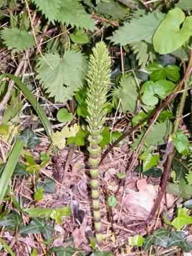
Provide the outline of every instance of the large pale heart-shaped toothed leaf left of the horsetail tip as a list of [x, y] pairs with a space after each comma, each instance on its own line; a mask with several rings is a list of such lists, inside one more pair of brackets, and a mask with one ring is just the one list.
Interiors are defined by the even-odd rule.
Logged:
[[81, 88], [84, 65], [85, 58], [80, 52], [67, 51], [62, 58], [58, 53], [47, 53], [36, 65], [36, 78], [40, 80], [49, 97], [64, 103], [72, 99], [74, 93]]

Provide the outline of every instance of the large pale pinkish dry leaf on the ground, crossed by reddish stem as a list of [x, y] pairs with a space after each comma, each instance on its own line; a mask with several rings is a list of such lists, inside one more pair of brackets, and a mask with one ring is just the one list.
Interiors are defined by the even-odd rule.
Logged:
[[[130, 214], [136, 217], [147, 218], [152, 210], [154, 201], [158, 195], [159, 186], [148, 184], [145, 179], [138, 180], [136, 186], [139, 191], [131, 190], [125, 198], [125, 206]], [[173, 195], [166, 194], [167, 208], [170, 208], [175, 199]], [[160, 212], [163, 211], [165, 199], [163, 197]]]

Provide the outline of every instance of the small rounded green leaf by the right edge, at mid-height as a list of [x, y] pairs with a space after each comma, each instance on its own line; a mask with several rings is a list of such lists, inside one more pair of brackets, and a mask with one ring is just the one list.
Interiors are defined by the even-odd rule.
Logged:
[[177, 134], [172, 136], [173, 144], [175, 145], [177, 151], [181, 154], [188, 154], [189, 152], [189, 140], [182, 131], [177, 132]]

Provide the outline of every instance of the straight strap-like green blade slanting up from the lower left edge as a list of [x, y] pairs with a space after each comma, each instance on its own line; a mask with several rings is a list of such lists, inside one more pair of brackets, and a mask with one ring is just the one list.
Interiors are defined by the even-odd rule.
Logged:
[[3, 173], [0, 178], [0, 204], [2, 203], [4, 194], [6, 193], [7, 186], [10, 182], [11, 176], [20, 157], [22, 149], [24, 147], [24, 142], [20, 139], [15, 141], [12, 152], [8, 158], [6, 166], [4, 167]]

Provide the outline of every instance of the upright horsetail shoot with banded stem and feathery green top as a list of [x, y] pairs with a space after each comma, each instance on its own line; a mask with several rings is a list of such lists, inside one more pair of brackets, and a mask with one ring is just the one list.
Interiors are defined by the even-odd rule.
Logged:
[[99, 42], [93, 48], [90, 56], [89, 72], [87, 75], [88, 89], [86, 92], [86, 104], [88, 108], [88, 130], [89, 140], [89, 163], [92, 189], [93, 217], [95, 226], [95, 237], [98, 246], [103, 244], [102, 223], [99, 213], [99, 170], [100, 147], [102, 140], [101, 131], [107, 114], [107, 93], [110, 83], [111, 61], [108, 56], [107, 47]]

